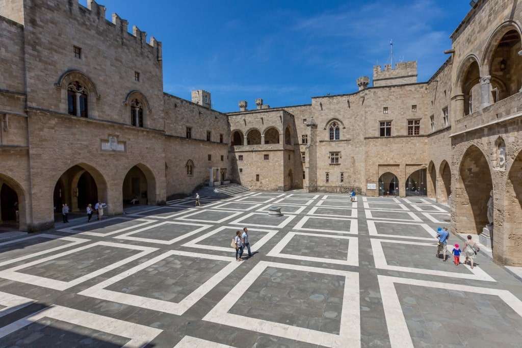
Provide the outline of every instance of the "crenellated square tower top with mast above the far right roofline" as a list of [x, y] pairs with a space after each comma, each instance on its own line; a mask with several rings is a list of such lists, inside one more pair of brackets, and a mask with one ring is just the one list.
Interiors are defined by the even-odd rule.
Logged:
[[405, 85], [417, 83], [417, 61], [386, 64], [384, 70], [380, 65], [373, 67], [373, 87]]

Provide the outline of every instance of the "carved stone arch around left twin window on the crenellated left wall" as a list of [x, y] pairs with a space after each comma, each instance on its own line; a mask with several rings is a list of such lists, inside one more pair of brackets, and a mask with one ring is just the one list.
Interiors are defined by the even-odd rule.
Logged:
[[67, 70], [65, 73], [58, 77], [58, 80], [54, 86], [60, 90], [60, 111], [66, 114], [67, 110], [67, 87], [70, 83], [78, 81], [87, 90], [87, 102], [88, 102], [88, 118], [98, 118], [98, 111], [96, 100], [101, 98], [98, 93], [96, 84], [92, 81], [87, 74], [82, 73], [80, 70]]

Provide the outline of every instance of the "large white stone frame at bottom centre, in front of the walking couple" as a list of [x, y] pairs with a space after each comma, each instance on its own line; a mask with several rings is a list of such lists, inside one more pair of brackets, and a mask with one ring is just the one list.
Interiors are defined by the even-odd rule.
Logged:
[[[238, 299], [248, 290], [248, 287], [255, 282], [267, 267], [341, 275], [345, 277], [339, 334], [336, 335], [228, 313], [230, 308], [234, 306]], [[248, 274], [245, 275], [239, 284], [237, 284], [214, 308], [210, 310], [203, 320], [327, 347], [346, 347], [347, 342], [350, 342], [350, 347], [360, 347], [361, 317], [359, 296], [358, 273], [260, 261]]]

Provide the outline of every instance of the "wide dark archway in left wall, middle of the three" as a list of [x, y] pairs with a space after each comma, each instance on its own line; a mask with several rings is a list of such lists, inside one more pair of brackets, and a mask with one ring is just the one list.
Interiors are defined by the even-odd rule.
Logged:
[[70, 212], [77, 212], [85, 211], [89, 203], [94, 205], [99, 199], [105, 202], [107, 199], [105, 178], [86, 163], [70, 167], [54, 185], [53, 207], [56, 214], [62, 213], [64, 203], [69, 205]]

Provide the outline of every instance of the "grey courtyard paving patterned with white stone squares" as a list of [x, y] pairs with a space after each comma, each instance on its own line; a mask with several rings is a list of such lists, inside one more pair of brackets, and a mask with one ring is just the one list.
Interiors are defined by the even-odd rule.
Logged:
[[[201, 203], [0, 243], [0, 347], [520, 346], [522, 283], [481, 253], [473, 269], [435, 258], [446, 206], [302, 191]], [[243, 226], [254, 255], [238, 262]]]

